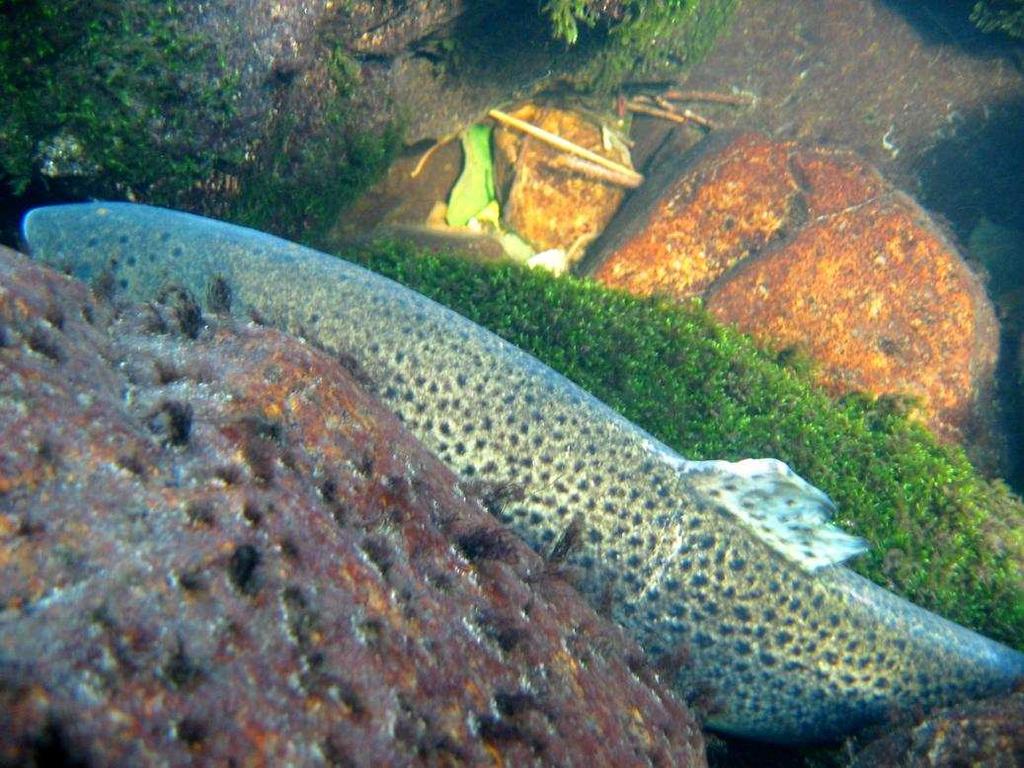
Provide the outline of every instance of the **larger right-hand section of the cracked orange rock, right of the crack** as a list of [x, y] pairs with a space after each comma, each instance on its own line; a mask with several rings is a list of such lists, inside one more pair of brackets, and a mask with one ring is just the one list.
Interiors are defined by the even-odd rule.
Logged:
[[980, 425], [995, 315], [956, 249], [902, 194], [814, 220], [714, 286], [708, 306], [773, 346], [807, 349], [837, 394], [910, 394], [947, 439]]

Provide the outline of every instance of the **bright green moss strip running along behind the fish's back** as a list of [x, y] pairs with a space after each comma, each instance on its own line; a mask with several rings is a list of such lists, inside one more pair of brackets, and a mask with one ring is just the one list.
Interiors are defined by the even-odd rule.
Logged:
[[394, 244], [346, 253], [561, 371], [693, 459], [776, 457], [825, 489], [879, 584], [1024, 647], [1024, 506], [898, 399], [839, 402], [696, 306]]

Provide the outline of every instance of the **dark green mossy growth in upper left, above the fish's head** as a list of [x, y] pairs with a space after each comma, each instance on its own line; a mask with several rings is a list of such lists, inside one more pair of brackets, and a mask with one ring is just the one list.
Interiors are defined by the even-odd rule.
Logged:
[[240, 145], [233, 129], [253, 120], [234, 106], [241, 73], [184, 13], [174, 0], [0, 0], [0, 183], [19, 196], [54, 176], [57, 195], [195, 209], [204, 184], [230, 179], [239, 195], [214, 195], [204, 212], [315, 236], [387, 167], [401, 126], [358, 124], [359, 67], [327, 46], [319, 112], [283, 96], [253, 126], [258, 148]]

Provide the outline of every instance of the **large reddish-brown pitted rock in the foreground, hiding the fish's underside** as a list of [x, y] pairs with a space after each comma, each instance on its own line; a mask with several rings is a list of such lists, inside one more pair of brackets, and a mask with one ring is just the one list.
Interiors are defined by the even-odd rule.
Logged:
[[0, 251], [0, 764], [705, 764], [365, 383]]

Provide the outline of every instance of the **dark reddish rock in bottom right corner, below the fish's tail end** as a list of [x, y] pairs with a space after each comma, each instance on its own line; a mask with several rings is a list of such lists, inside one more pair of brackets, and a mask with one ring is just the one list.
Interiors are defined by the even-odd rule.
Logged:
[[861, 750], [851, 768], [1017, 768], [1024, 765], [1024, 691], [889, 730], [894, 732]]

